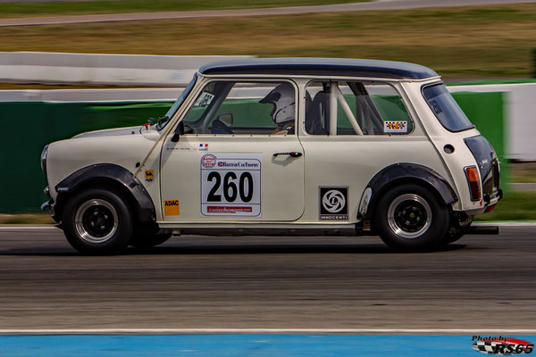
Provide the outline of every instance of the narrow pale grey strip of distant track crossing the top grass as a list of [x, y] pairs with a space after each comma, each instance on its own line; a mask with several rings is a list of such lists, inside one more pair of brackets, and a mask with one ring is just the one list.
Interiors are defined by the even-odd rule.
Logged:
[[[2, 1], [2, 0], [0, 0]], [[370, 10], [416, 9], [423, 7], [476, 6], [487, 4], [534, 3], [536, 0], [380, 0], [368, 3], [330, 4], [316, 6], [272, 7], [239, 10], [205, 10], [187, 12], [134, 12], [96, 15], [71, 15], [0, 19], [3, 26], [29, 26], [107, 21], [153, 21], [207, 17], [269, 16], [315, 12], [356, 12]]]

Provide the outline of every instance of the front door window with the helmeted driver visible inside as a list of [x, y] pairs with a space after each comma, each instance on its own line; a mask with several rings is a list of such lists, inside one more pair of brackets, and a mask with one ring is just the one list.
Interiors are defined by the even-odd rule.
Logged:
[[295, 113], [290, 83], [212, 81], [183, 120], [194, 134], [292, 135]]

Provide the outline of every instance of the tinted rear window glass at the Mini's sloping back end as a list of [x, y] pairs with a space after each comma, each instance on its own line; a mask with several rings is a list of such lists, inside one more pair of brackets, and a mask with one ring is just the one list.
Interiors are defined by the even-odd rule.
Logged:
[[442, 84], [423, 88], [424, 99], [431, 111], [449, 131], [473, 129], [474, 125]]

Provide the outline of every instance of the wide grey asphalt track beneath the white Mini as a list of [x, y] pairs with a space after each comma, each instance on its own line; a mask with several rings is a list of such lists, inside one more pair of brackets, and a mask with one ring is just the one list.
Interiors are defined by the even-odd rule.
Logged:
[[80, 256], [0, 229], [0, 328], [534, 329], [536, 227], [395, 253], [377, 237], [173, 237]]

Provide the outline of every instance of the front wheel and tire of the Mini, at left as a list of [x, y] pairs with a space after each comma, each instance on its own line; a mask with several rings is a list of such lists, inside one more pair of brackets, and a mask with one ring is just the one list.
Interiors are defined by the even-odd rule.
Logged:
[[92, 188], [73, 195], [63, 210], [63, 233], [83, 254], [121, 253], [129, 245], [133, 219], [120, 194]]

